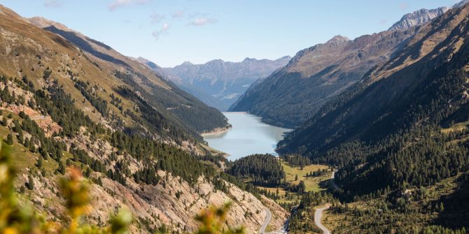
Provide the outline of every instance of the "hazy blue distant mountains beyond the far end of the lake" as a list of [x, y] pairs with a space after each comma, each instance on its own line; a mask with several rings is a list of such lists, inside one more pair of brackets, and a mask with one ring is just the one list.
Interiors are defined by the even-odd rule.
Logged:
[[285, 66], [290, 59], [291, 57], [286, 56], [274, 61], [246, 58], [241, 62], [226, 62], [221, 59], [206, 64], [185, 62], [174, 68], [162, 68], [160, 72], [167, 74], [169, 80], [207, 105], [224, 111], [253, 82], [266, 78], [277, 68]]

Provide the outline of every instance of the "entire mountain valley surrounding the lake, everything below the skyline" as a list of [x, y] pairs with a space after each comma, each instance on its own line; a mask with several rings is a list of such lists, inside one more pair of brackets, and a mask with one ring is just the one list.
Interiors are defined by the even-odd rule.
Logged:
[[[221, 228], [247, 233], [280, 230], [289, 216], [288, 231], [317, 232], [318, 210], [333, 233], [467, 233], [466, 2], [293, 58], [174, 68], [0, 6], [0, 183], [17, 175], [1, 207], [13, 200], [47, 224], [73, 224], [67, 210], [86, 199], [58, 191], [76, 168], [91, 198], [83, 221], [104, 226], [124, 207], [131, 233], [194, 232], [194, 214], [227, 201]], [[230, 162], [207, 146], [202, 133], [230, 126], [219, 111], [228, 105], [295, 128], [280, 158]], [[0, 231], [23, 215], [6, 210], [21, 215], [0, 217]]]

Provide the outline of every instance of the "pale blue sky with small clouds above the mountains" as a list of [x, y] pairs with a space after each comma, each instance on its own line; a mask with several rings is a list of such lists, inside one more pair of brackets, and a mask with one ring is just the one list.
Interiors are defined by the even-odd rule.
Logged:
[[341, 34], [386, 30], [405, 13], [455, 0], [0, 0], [160, 66], [276, 59]]

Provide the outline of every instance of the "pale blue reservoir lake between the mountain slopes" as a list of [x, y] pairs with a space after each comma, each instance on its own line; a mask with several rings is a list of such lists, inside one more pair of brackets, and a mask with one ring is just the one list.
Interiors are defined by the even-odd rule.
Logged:
[[250, 154], [274, 154], [276, 144], [290, 129], [283, 129], [261, 122], [261, 118], [245, 112], [223, 112], [232, 125], [224, 133], [204, 136], [209, 146], [227, 154], [228, 159], [236, 159]]

